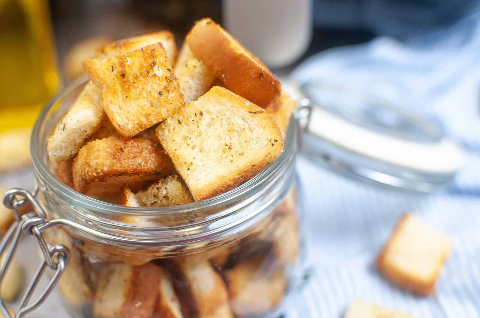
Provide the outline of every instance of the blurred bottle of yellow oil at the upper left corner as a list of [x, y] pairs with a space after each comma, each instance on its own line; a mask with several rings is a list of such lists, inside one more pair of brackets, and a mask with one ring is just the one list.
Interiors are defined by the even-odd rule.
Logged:
[[0, 133], [33, 126], [58, 87], [47, 0], [0, 0]]

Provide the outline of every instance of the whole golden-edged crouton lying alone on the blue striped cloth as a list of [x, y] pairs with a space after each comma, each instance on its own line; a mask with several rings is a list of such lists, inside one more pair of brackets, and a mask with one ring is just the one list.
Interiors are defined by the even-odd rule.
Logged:
[[399, 219], [376, 265], [392, 283], [416, 295], [430, 295], [451, 246], [445, 234], [418, 216], [406, 213]]

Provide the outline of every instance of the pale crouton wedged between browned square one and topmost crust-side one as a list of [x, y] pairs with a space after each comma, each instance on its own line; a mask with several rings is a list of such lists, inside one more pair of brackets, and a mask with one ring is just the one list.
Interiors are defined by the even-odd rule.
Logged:
[[178, 63], [174, 67], [179, 79], [184, 101], [192, 102], [207, 92], [215, 80], [215, 74], [196, 58], [188, 44], [183, 43]]

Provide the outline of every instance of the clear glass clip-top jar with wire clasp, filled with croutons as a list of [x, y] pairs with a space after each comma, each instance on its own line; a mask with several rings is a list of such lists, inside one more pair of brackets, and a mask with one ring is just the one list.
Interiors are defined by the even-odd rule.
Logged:
[[[296, 125], [288, 129], [282, 155], [234, 190], [180, 206], [126, 207], [74, 191], [48, 160], [47, 138], [80, 89], [77, 82], [60, 93], [36, 122], [31, 150], [38, 189], [31, 197], [23, 192], [36, 215], [20, 221], [26, 234], [51, 245], [44, 256], [57, 273], [60, 260], [70, 258], [58, 286], [71, 314], [279, 315], [301, 275]], [[14, 194], [22, 193], [14, 190], [4, 202], [19, 207], [23, 201]]]

